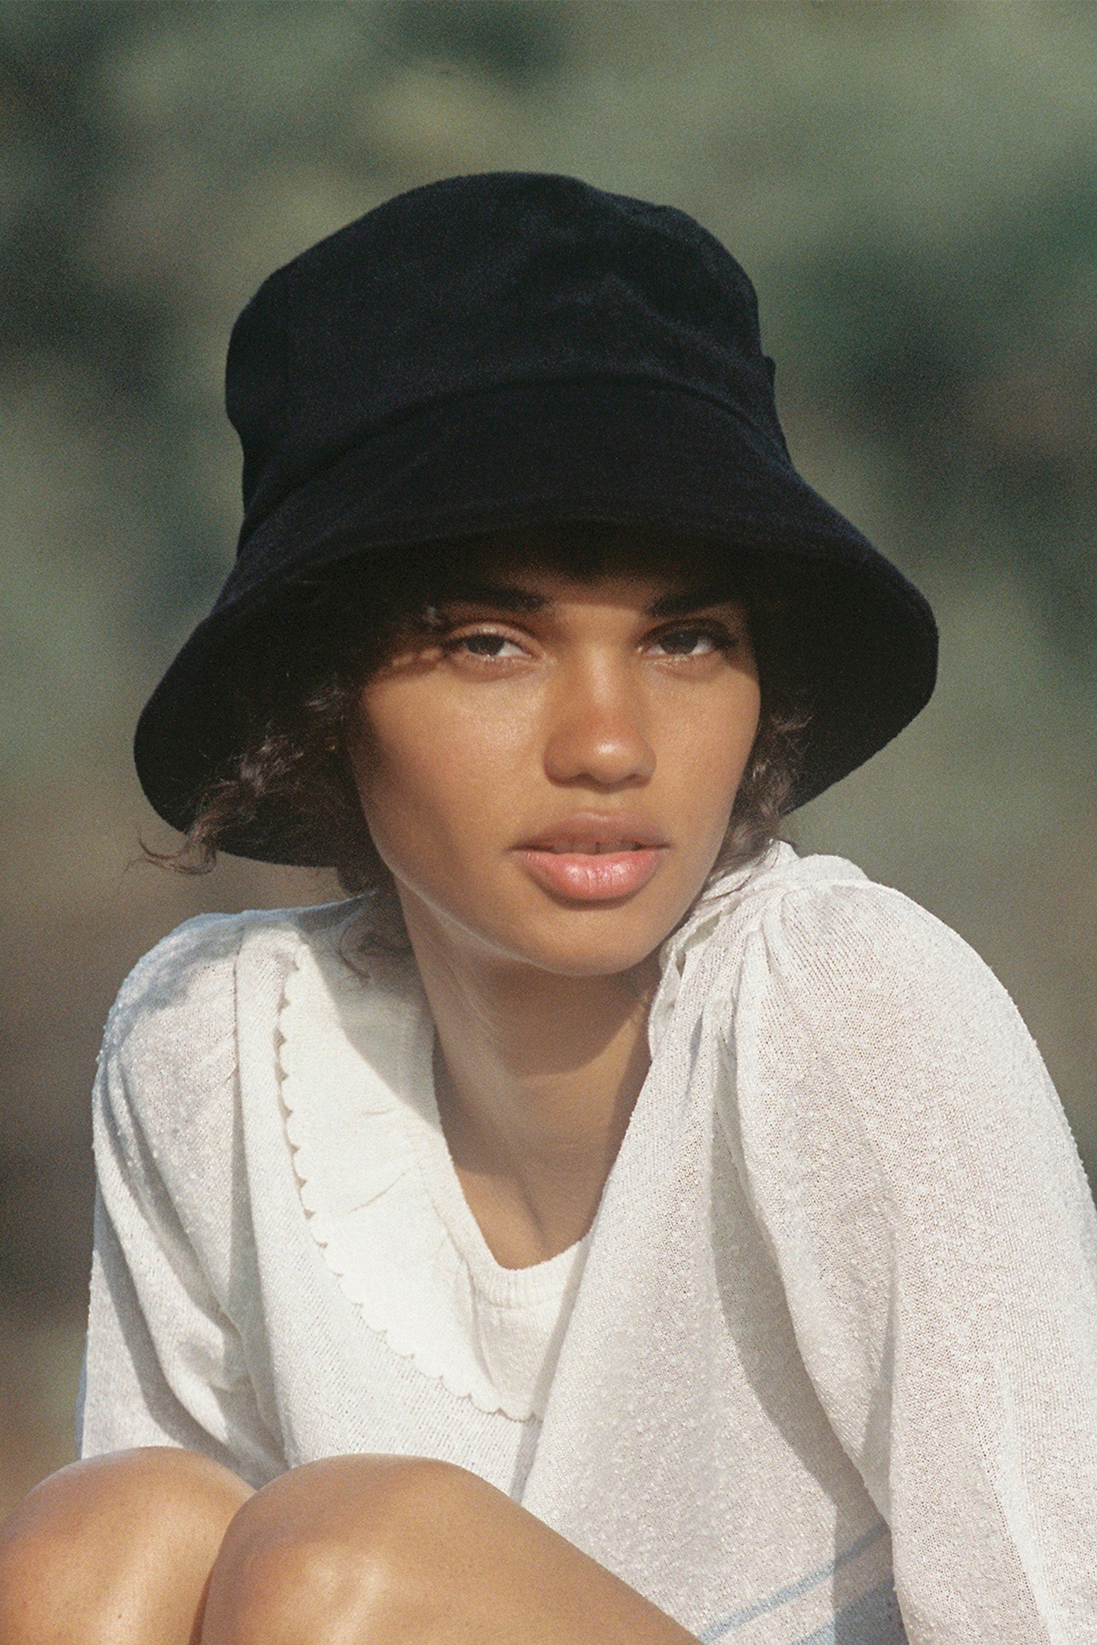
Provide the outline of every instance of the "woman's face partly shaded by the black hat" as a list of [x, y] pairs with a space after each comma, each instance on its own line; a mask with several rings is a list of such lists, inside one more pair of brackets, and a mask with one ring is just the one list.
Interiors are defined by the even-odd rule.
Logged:
[[564, 975], [646, 959], [712, 869], [758, 707], [742, 605], [689, 579], [477, 572], [359, 699], [413, 939]]

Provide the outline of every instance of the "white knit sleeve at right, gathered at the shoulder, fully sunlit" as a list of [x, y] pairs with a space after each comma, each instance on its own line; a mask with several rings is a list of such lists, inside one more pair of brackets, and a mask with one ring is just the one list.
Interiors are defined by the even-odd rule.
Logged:
[[1097, 1221], [1011, 1000], [868, 882], [747, 938], [725, 1130], [911, 1645], [1097, 1640]]

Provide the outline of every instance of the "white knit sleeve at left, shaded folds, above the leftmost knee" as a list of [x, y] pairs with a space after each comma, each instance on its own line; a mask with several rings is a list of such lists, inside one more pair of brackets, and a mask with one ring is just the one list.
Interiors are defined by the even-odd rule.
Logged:
[[95, 1245], [82, 1456], [173, 1444], [252, 1484], [281, 1472], [250, 1375], [257, 1318], [240, 1160], [237, 923], [187, 921], [132, 972], [94, 1094]]

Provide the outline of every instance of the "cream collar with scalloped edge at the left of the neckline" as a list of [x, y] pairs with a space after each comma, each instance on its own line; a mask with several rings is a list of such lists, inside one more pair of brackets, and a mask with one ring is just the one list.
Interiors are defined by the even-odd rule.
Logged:
[[388, 1347], [479, 1410], [539, 1416], [589, 1235], [503, 1268], [469, 1211], [434, 1102], [434, 1023], [408, 957], [352, 971], [350, 920], [293, 952], [278, 1018], [301, 1202], [345, 1296]]

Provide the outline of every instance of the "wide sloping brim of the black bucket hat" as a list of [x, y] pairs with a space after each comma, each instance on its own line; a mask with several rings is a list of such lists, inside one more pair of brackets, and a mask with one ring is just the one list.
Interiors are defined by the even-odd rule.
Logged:
[[[145, 795], [173, 827], [243, 752], [225, 689], [255, 625], [294, 581], [347, 559], [400, 576], [411, 544], [600, 521], [706, 536], [755, 577], [780, 572], [793, 655], [781, 671], [811, 706], [793, 806], [890, 742], [928, 702], [937, 632], [928, 602], [783, 451], [729, 403], [645, 380], [516, 383], [419, 410], [370, 434], [286, 495], [242, 546], [211, 615], [138, 721]], [[257, 816], [234, 850], [327, 867], [299, 819], [280, 847]]]

